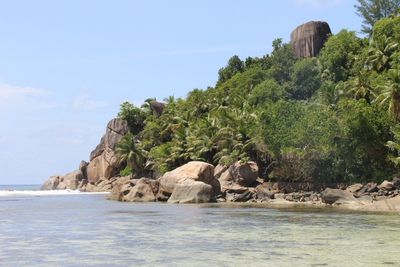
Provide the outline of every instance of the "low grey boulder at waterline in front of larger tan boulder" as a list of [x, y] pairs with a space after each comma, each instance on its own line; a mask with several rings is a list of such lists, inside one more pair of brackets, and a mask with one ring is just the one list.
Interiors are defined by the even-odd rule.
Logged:
[[171, 197], [168, 199], [169, 203], [207, 203], [213, 200], [214, 192], [211, 185], [186, 180], [183, 183], [177, 184]]

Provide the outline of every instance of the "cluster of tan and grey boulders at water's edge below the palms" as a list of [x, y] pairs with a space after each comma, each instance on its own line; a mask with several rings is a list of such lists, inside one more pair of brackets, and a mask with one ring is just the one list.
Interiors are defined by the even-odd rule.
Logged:
[[258, 168], [254, 162], [230, 166], [191, 161], [158, 179], [122, 177], [109, 199], [169, 203], [244, 202], [256, 196]]

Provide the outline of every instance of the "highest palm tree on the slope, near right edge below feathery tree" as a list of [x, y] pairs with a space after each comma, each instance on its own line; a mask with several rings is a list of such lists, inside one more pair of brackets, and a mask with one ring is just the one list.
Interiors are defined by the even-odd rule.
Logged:
[[386, 36], [375, 37], [372, 40], [366, 63], [372, 69], [381, 72], [390, 68], [390, 56], [398, 47], [398, 43]]

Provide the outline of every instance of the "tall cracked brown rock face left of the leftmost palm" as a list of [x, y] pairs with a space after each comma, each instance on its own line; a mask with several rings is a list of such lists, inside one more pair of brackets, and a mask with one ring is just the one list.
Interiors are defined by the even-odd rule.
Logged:
[[86, 176], [95, 184], [100, 178], [111, 178], [117, 174], [118, 164], [115, 147], [128, 132], [128, 123], [122, 119], [112, 119], [106, 128], [100, 144], [90, 153], [90, 162], [86, 166]]

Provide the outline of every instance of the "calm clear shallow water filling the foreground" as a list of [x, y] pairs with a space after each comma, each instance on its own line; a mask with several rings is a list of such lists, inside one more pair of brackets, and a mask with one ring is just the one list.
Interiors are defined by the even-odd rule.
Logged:
[[2, 196], [0, 265], [400, 266], [400, 216]]

